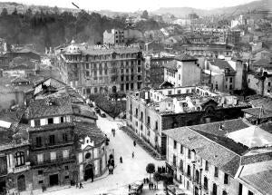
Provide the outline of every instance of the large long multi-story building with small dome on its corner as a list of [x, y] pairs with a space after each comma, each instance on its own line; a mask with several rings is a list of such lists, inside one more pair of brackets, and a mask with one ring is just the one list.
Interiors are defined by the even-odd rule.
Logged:
[[[103, 47], [104, 46], [104, 47]], [[58, 53], [64, 83], [86, 95], [141, 89], [144, 63], [138, 47], [71, 45]]]

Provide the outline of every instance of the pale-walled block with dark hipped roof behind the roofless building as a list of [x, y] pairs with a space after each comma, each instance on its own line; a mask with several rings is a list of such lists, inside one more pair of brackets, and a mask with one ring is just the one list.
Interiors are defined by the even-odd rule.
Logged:
[[164, 81], [175, 87], [196, 86], [201, 83], [198, 59], [182, 54], [164, 66]]

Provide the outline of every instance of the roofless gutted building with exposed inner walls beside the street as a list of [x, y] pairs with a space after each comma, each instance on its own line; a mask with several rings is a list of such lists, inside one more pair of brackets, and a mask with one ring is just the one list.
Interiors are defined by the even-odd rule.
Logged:
[[160, 152], [166, 153], [166, 137], [162, 132], [174, 127], [217, 122], [243, 116], [248, 108], [235, 96], [212, 93], [207, 86], [168, 88], [164, 85], [127, 95], [126, 122], [140, 138]]

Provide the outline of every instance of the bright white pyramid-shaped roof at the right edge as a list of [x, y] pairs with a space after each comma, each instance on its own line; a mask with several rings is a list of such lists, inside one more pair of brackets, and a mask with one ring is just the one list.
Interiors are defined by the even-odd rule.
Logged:
[[272, 134], [255, 125], [236, 132], [230, 132], [227, 136], [234, 141], [248, 146], [248, 148], [263, 147], [272, 144]]

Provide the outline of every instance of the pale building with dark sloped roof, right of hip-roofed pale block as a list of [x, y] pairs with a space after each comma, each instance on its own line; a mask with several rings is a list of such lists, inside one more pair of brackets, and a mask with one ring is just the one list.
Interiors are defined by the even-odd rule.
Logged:
[[247, 83], [247, 64], [240, 60], [211, 59], [203, 69], [210, 76], [211, 88], [220, 92], [242, 90]]

